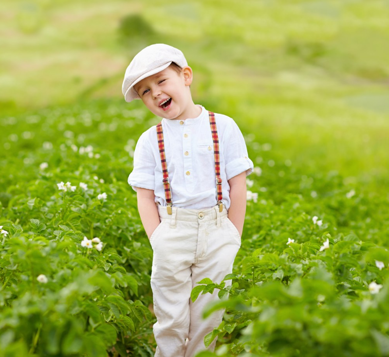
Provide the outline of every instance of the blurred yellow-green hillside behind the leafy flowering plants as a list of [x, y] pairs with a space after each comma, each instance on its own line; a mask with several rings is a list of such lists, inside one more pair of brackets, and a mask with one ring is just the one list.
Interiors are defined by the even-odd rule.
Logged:
[[[257, 164], [335, 172], [389, 198], [388, 0], [3, 0], [0, 33], [8, 129], [42, 108], [144, 110], [124, 101], [124, 72], [162, 42], [193, 68], [195, 103], [234, 118], [250, 150], [272, 150]], [[18, 135], [6, 133], [0, 151]]]

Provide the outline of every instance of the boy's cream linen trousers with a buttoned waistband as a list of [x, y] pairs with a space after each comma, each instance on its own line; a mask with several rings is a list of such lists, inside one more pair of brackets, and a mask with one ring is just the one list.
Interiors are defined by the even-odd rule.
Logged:
[[[161, 223], [150, 237], [155, 357], [192, 357], [205, 350], [204, 336], [219, 326], [224, 311], [203, 320], [204, 305], [218, 301], [219, 290], [200, 294], [194, 303], [190, 292], [204, 278], [220, 283], [232, 272], [241, 237], [225, 207], [222, 212], [218, 206], [206, 210], [172, 207], [172, 214], [167, 214], [166, 207], [158, 205], [158, 213]], [[213, 351], [215, 344], [216, 339], [207, 350]]]

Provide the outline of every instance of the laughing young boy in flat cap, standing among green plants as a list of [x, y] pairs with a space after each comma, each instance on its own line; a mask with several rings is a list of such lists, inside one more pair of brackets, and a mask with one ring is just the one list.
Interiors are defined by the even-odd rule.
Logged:
[[253, 171], [235, 122], [193, 103], [192, 79], [180, 50], [154, 44], [133, 58], [122, 88], [127, 102], [141, 99], [164, 118], [140, 136], [128, 178], [153, 249], [155, 357], [194, 356], [222, 321], [223, 311], [202, 320], [217, 291], [195, 303], [190, 292], [204, 278], [221, 282], [232, 272]]

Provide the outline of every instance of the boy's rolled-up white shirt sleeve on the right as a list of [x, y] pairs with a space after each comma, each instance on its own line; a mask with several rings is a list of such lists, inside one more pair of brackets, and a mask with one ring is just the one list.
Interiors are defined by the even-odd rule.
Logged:
[[238, 125], [231, 119], [229, 130], [224, 139], [224, 160], [227, 180], [246, 172], [250, 175], [254, 169], [254, 163], [248, 157], [246, 143]]

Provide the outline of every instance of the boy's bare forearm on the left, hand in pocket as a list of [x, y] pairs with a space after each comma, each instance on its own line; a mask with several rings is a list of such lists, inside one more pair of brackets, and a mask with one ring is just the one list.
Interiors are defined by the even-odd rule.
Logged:
[[137, 187], [136, 197], [138, 199], [138, 211], [141, 216], [143, 227], [148, 238], [161, 223], [158, 208], [154, 202], [154, 191]]

